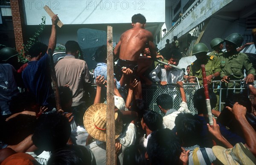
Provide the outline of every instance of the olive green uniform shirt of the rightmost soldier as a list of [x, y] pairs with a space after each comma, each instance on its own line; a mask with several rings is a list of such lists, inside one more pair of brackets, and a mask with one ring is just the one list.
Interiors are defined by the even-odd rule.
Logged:
[[221, 62], [221, 78], [224, 76], [233, 76], [230, 80], [241, 80], [244, 78], [244, 69], [247, 75], [253, 74], [255, 76], [255, 69], [250, 62], [248, 56], [244, 53], [237, 52], [232, 56], [228, 56], [227, 52], [219, 54]]

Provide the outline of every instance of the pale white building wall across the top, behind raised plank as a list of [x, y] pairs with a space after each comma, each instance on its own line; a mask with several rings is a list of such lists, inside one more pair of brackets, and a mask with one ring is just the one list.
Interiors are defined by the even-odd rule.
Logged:
[[42, 16], [47, 16], [45, 5], [64, 25], [130, 23], [138, 13], [147, 22], [165, 22], [165, 0], [24, 0], [26, 25], [41, 23]]

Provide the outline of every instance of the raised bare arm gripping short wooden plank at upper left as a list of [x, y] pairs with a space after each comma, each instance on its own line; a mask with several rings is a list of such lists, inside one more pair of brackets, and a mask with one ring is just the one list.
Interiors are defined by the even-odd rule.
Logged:
[[[51, 36], [50, 36], [49, 44], [48, 44], [48, 49], [51, 48], [52, 53], [54, 52], [55, 47], [56, 47], [56, 25], [57, 25], [58, 20], [59, 20], [58, 15], [55, 14], [52, 17], [52, 32], [51, 32]], [[47, 54], [48, 54], [48, 49], [47, 49]]]

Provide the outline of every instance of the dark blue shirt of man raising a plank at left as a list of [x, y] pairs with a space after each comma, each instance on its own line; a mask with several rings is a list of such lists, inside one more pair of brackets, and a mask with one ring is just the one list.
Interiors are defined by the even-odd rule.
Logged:
[[35, 95], [37, 103], [47, 106], [46, 100], [53, 93], [48, 54], [45, 53], [39, 61], [29, 62], [22, 73], [22, 79], [25, 88]]

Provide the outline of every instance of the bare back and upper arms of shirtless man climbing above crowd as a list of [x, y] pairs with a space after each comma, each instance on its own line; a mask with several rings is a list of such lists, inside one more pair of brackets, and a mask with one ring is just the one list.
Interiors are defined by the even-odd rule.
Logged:
[[151, 56], [156, 56], [155, 46], [153, 43], [153, 35], [150, 31], [144, 29], [144, 24], [136, 23], [134, 27], [125, 31], [116, 48], [115, 55], [119, 55], [119, 59], [137, 61], [145, 45], [148, 44]]

